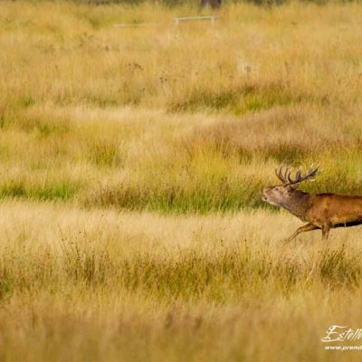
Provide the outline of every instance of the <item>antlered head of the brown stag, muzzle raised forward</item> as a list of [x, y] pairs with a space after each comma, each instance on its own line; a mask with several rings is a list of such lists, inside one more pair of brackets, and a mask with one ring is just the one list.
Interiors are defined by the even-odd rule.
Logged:
[[300, 167], [295, 176], [292, 176], [292, 169], [290, 167], [280, 167], [275, 170], [275, 175], [281, 180], [282, 184], [264, 187], [262, 189], [262, 201], [291, 210], [296, 201], [305, 199], [303, 195], [307, 195], [298, 190], [300, 183], [306, 180], [314, 180], [319, 175], [319, 167], [310, 167], [304, 175]]

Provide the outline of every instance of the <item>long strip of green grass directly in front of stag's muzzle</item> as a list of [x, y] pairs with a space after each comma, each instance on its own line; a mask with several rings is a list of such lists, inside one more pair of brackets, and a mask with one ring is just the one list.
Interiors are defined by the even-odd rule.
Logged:
[[[159, 183], [157, 182], [159, 180]], [[114, 206], [122, 209], [160, 211], [162, 213], [230, 212], [265, 206], [261, 200], [262, 182], [252, 178], [230, 179], [214, 177], [195, 181], [180, 177], [178, 181], [165, 183], [155, 179], [153, 183], [116, 184], [98, 186], [81, 198], [87, 207]]]

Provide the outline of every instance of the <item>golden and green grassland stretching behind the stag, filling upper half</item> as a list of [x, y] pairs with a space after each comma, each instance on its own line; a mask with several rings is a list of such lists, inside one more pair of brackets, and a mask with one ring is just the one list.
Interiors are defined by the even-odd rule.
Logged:
[[319, 191], [359, 190], [359, 5], [229, 5], [215, 27], [175, 27], [186, 7], [2, 9], [2, 197], [238, 210], [312, 161]]

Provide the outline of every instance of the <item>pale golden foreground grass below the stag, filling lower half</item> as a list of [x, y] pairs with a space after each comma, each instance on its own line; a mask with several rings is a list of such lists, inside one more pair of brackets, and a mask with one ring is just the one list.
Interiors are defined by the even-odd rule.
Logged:
[[262, 211], [0, 211], [4, 360], [339, 361], [320, 338], [361, 321], [351, 229], [285, 244], [298, 222]]

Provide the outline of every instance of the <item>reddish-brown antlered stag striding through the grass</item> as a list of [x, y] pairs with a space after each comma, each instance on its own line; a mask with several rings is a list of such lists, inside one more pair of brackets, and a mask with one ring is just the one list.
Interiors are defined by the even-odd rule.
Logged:
[[300, 220], [308, 223], [301, 226], [287, 241], [299, 233], [321, 229], [322, 238], [328, 239], [329, 229], [362, 224], [362, 196], [338, 194], [308, 194], [298, 189], [301, 182], [312, 180], [319, 175], [319, 167], [310, 167], [305, 174], [298, 169], [294, 177], [291, 169], [281, 167], [275, 170], [281, 186], [264, 187], [262, 201], [281, 206]]

